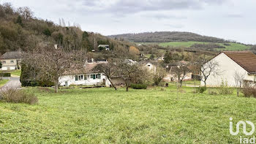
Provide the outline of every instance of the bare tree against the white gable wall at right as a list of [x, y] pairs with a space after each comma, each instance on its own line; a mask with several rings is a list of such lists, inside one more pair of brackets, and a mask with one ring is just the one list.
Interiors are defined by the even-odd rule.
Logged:
[[200, 66], [201, 80], [203, 81], [206, 88], [206, 80], [210, 75], [219, 75], [219, 63], [217, 61], [211, 60], [206, 61], [206, 59], [201, 59], [197, 62]]

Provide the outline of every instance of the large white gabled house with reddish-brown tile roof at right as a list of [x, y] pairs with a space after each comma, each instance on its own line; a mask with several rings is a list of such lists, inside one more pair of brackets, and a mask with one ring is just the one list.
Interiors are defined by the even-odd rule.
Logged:
[[[256, 80], [256, 55], [250, 51], [225, 51], [212, 58], [219, 66], [219, 75], [209, 75], [206, 86], [221, 86], [222, 82], [228, 86], [236, 86], [235, 72], [244, 75], [244, 80]], [[207, 63], [206, 63], [207, 64]], [[201, 86], [204, 86], [201, 81]]]

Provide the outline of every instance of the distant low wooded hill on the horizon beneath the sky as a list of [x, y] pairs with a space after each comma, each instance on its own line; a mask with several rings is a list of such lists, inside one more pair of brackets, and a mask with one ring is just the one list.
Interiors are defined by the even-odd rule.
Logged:
[[207, 37], [191, 32], [159, 31], [139, 34], [118, 34], [108, 36], [112, 39], [124, 39], [130, 42], [226, 42], [225, 39]]

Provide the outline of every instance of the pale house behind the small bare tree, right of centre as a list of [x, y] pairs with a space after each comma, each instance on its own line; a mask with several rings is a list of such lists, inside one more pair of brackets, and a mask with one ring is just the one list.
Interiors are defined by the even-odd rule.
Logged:
[[[178, 77], [175, 77], [174, 73], [173, 73], [173, 68], [174, 67], [179, 67], [179, 66], [182, 66], [182, 65], [186, 65], [186, 64], [189, 64], [189, 61], [176, 61], [176, 62], [173, 62], [171, 64], [167, 64], [166, 66], [166, 72], [167, 72], [167, 75], [164, 77], [164, 81], [166, 82], [170, 82], [170, 81], [178, 81]], [[183, 75], [182, 75], [183, 77]], [[184, 77], [184, 80], [192, 80], [192, 72], [189, 72], [185, 77]]]

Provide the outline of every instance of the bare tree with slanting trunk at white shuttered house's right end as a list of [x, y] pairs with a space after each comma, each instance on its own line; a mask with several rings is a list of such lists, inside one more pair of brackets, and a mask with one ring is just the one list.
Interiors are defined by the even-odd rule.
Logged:
[[108, 63], [106, 64], [98, 64], [95, 69], [99, 69], [101, 72], [103, 72], [110, 81], [111, 86], [113, 86], [113, 88], [117, 90], [116, 86], [111, 80], [111, 78], [113, 78], [113, 75], [116, 72], [116, 64], [114, 64], [113, 61], [108, 61]]

